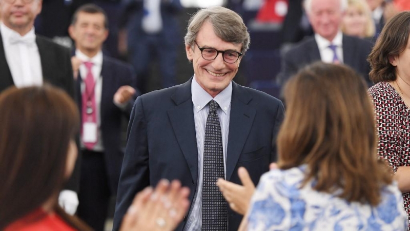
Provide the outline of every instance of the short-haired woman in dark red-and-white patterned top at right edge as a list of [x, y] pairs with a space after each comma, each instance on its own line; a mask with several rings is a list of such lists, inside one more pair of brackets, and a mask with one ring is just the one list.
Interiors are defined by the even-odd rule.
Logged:
[[[378, 154], [391, 165], [410, 215], [410, 12], [394, 16], [368, 57]], [[410, 227], [409, 227], [410, 230]]]

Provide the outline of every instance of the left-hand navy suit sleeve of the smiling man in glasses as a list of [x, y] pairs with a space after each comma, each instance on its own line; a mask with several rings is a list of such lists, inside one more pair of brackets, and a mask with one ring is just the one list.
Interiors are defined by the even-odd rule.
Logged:
[[122, 217], [135, 194], [150, 184], [147, 121], [141, 97], [137, 98], [131, 111], [127, 133], [127, 148], [118, 183], [113, 230], [119, 230]]

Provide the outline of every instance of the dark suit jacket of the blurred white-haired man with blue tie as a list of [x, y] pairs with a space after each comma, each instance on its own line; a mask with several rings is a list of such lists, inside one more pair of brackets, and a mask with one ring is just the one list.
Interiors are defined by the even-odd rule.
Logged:
[[[356, 70], [369, 85], [372, 85], [368, 79], [370, 64], [366, 60], [367, 55], [372, 51], [372, 43], [343, 34], [342, 44], [343, 63]], [[278, 83], [283, 85], [299, 69], [320, 60], [320, 52], [315, 37], [312, 36], [303, 40], [282, 57], [281, 71], [277, 76]]]

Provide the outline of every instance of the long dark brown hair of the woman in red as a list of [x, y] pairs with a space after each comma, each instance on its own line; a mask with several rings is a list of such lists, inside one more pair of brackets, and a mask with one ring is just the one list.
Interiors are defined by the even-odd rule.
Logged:
[[[79, 114], [67, 93], [48, 85], [5, 90], [0, 94], [0, 111], [2, 230], [58, 195]], [[57, 201], [54, 209], [63, 218], [68, 216]]]

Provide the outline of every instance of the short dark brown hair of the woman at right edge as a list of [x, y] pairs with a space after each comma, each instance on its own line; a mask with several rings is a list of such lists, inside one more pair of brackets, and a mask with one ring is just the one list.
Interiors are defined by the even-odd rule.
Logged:
[[395, 15], [384, 25], [367, 61], [372, 70], [369, 73], [373, 83], [396, 80], [396, 67], [389, 62], [390, 57], [401, 54], [407, 46], [410, 34], [410, 12]]

